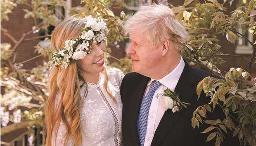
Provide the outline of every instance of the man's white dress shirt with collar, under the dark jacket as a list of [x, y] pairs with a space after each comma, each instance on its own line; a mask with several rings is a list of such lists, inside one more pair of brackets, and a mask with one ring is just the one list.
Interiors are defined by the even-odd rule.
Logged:
[[159, 125], [161, 118], [164, 115], [164, 112], [166, 111], [166, 109], [164, 109], [163, 107], [163, 100], [161, 98], [161, 95], [163, 95], [164, 90], [166, 88], [174, 91], [180, 79], [180, 75], [183, 72], [184, 67], [185, 67], [185, 62], [183, 58], [180, 56], [180, 63], [177, 65], [177, 67], [175, 67], [173, 71], [171, 71], [169, 74], [164, 76], [162, 79], [159, 79], [159, 80], [150, 79], [149, 82], [147, 83], [147, 88], [145, 90], [144, 97], [147, 95], [152, 81], [155, 81], [155, 80], [159, 81], [162, 85], [156, 89], [152, 99], [152, 103], [150, 105], [149, 116], [147, 118], [147, 132], [146, 132], [144, 146], [150, 146], [153, 140], [156, 128]]

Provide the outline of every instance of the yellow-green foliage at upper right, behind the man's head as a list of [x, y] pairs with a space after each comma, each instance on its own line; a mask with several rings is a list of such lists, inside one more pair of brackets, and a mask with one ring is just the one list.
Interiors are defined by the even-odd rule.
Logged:
[[205, 3], [199, 0], [185, 0], [182, 6], [172, 7], [176, 19], [191, 36], [190, 42], [184, 47], [183, 57], [193, 64], [204, 65], [209, 71], [218, 73], [220, 72], [217, 65], [224, 63], [221, 58], [223, 53], [218, 44], [220, 39], [226, 37], [235, 44], [239, 37], [245, 37], [245, 34], [239, 34], [239, 27], [251, 29], [250, 33], [256, 34], [256, 22], [253, 21], [256, 15], [253, 10], [253, 7], [256, 7], [255, 0], [245, 4], [238, 2], [239, 7], [231, 14], [227, 14], [224, 4], [225, 1], [219, 3], [217, 0], [206, 0]]

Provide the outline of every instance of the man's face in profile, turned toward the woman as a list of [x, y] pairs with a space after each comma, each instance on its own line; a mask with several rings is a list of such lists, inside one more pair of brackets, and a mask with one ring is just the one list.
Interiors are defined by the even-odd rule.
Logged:
[[156, 66], [161, 63], [161, 47], [152, 46], [145, 35], [131, 32], [131, 44], [126, 53], [132, 60], [133, 71], [145, 76], [158, 72]]

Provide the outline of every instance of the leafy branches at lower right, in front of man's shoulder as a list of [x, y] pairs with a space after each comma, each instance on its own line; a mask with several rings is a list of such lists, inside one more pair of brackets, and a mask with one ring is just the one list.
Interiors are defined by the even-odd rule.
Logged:
[[[201, 91], [204, 91], [211, 98], [211, 102], [194, 111], [192, 127], [199, 127], [197, 121], [203, 124], [201, 117], [206, 118], [206, 113], [214, 111], [216, 106], [220, 106], [226, 116], [223, 121], [220, 119], [204, 121], [210, 126], [203, 133], [215, 133], [211, 133], [206, 141], [210, 141], [217, 135], [216, 143], [220, 145], [220, 141], [224, 140], [223, 132], [228, 133], [227, 129], [230, 129], [232, 135], [238, 134], [239, 140], [244, 144], [252, 146], [256, 144], [254, 132], [256, 130], [256, 79], [248, 81], [249, 77], [251, 77], [250, 74], [242, 68], [231, 68], [225, 74], [225, 79], [206, 77], [197, 85], [197, 94], [200, 95]], [[217, 132], [212, 131], [215, 128]]]

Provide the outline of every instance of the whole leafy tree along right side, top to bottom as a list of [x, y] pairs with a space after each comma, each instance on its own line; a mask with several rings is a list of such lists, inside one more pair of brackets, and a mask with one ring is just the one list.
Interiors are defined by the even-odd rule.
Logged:
[[[191, 40], [185, 45], [185, 60], [218, 75], [220, 78], [206, 77], [197, 86], [197, 94], [204, 91], [211, 99], [208, 104], [198, 107], [192, 117], [192, 127], [199, 127], [199, 123], [209, 127], [203, 133], [210, 133], [206, 141], [216, 140], [220, 146], [224, 141], [224, 134], [231, 130], [244, 144], [256, 145], [256, 79], [250, 76], [251, 66], [255, 60], [256, 42], [251, 42], [239, 28], [256, 34], [256, 1], [237, 1], [237, 8], [230, 14], [224, 4], [227, 0], [185, 0], [183, 5], [173, 7], [176, 18], [190, 33]], [[231, 6], [234, 0], [229, 1]], [[220, 38], [225, 37], [233, 44], [239, 37], [245, 39], [252, 47], [251, 59], [234, 54], [223, 54], [218, 44]], [[249, 72], [242, 68], [230, 68], [225, 75], [221, 74], [218, 65], [223, 64], [222, 56], [242, 57], [248, 61]], [[225, 119], [208, 119], [216, 106], [220, 106]]]

